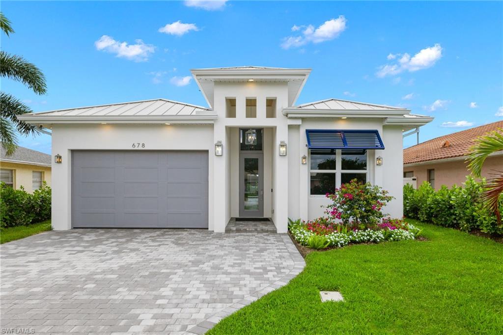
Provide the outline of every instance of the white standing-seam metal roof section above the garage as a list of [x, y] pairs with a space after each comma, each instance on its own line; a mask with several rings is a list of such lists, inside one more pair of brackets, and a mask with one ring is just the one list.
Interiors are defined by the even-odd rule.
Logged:
[[180, 103], [166, 99], [133, 101], [120, 104], [108, 104], [88, 107], [60, 109], [42, 113], [24, 115], [37, 116], [174, 116], [211, 114], [205, 107]]

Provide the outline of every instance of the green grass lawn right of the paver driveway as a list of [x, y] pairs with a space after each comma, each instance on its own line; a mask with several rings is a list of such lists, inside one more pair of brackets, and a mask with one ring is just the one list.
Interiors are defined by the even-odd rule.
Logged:
[[[311, 253], [287, 286], [209, 333], [503, 333], [503, 244], [408, 221], [429, 240]], [[345, 301], [322, 303], [320, 290]]]

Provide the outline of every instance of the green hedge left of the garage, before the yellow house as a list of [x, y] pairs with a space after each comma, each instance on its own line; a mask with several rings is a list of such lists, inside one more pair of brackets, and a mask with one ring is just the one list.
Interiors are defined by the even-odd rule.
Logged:
[[41, 222], [51, 217], [51, 189], [45, 183], [30, 194], [0, 185], [0, 227], [15, 227]]

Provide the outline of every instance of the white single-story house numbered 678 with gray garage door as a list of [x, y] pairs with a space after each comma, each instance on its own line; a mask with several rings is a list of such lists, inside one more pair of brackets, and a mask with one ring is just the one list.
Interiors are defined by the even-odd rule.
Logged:
[[353, 178], [388, 190], [386, 211], [401, 217], [402, 133], [432, 118], [338, 99], [297, 106], [310, 71], [192, 70], [209, 108], [156, 99], [19, 116], [52, 129], [54, 229], [224, 232], [232, 217], [266, 217], [284, 233]]

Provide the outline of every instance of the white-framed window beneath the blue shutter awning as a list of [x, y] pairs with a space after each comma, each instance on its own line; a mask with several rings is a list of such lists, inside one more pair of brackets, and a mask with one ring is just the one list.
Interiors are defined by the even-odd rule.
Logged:
[[342, 184], [368, 180], [367, 150], [309, 150], [311, 195], [325, 195]]

